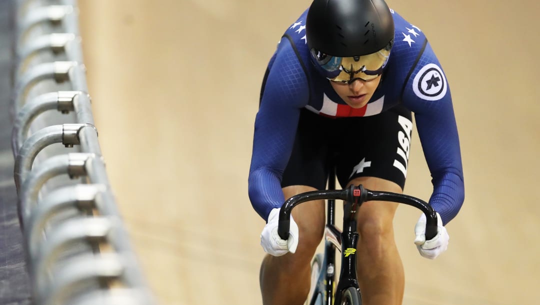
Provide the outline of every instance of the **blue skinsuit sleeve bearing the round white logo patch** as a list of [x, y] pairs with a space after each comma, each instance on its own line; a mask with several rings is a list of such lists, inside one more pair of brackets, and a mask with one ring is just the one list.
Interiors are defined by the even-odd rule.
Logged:
[[427, 40], [416, 61], [402, 99], [414, 112], [431, 173], [434, 188], [429, 203], [446, 225], [460, 211], [465, 196], [460, 140], [448, 82]]

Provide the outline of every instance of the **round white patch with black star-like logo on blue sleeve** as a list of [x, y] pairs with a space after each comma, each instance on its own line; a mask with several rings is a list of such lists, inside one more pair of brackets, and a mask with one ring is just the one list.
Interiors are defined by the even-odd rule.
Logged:
[[436, 64], [423, 66], [413, 80], [413, 91], [421, 99], [442, 99], [446, 96], [447, 87], [446, 78]]

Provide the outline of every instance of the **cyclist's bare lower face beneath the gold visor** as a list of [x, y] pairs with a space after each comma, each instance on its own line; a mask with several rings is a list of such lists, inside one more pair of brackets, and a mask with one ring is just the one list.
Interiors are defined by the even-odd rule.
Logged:
[[357, 78], [350, 84], [332, 82], [330, 80], [330, 84], [335, 92], [338, 93], [339, 97], [353, 108], [366, 106], [380, 82], [381, 76], [372, 80], [361, 80]]

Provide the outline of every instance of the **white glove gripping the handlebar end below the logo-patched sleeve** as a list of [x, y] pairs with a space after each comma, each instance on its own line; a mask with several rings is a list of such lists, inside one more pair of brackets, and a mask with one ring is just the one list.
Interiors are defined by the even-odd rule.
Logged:
[[437, 235], [431, 240], [426, 241], [426, 215], [422, 213], [414, 227], [414, 233], [416, 234], [414, 243], [416, 248], [418, 248], [420, 255], [431, 260], [434, 260], [435, 257], [448, 249], [448, 240], [450, 239], [446, 228], [442, 225], [442, 219], [439, 213], [437, 213], [437, 219]]

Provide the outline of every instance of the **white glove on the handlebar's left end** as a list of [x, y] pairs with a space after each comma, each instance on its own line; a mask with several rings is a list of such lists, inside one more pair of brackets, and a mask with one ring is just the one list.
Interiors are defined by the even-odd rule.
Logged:
[[261, 246], [265, 252], [274, 256], [285, 255], [287, 252], [296, 252], [298, 247], [298, 225], [291, 215], [291, 229], [289, 238], [282, 240], [278, 235], [279, 208], [274, 208], [268, 216], [268, 223], [261, 233]]

